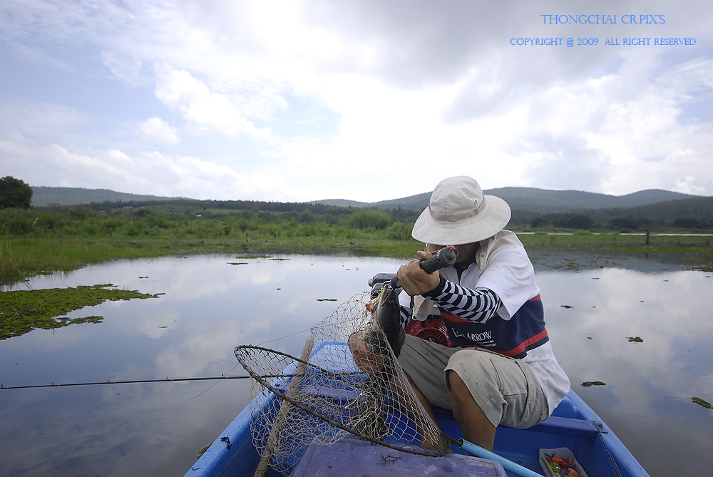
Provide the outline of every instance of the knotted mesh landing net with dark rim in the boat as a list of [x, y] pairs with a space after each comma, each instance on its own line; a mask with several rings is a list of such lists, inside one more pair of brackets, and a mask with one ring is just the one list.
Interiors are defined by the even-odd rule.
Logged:
[[342, 438], [429, 456], [448, 451], [448, 438], [429, 418], [376, 326], [369, 298], [355, 295], [312, 327], [299, 359], [261, 347], [235, 349], [253, 378], [255, 447], [276, 471], [289, 475], [311, 443]]

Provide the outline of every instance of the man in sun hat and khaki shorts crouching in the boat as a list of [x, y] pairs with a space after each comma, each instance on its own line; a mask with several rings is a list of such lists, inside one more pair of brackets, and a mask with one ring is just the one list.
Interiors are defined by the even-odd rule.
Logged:
[[545, 330], [533, 265], [503, 230], [510, 217], [508, 204], [483, 195], [473, 178], [445, 179], [411, 235], [426, 244], [420, 260], [454, 245], [456, 264], [429, 274], [411, 260], [397, 273], [402, 326], [438, 319], [448, 332], [446, 346], [406, 334], [399, 364], [434, 422], [432, 405], [452, 409], [463, 437], [491, 451], [498, 426], [544, 421], [570, 387]]

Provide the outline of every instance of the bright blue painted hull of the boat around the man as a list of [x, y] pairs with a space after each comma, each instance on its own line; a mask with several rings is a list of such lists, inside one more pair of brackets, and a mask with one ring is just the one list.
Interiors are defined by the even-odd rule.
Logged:
[[[316, 345], [313, 356], [322, 351], [322, 347]], [[265, 401], [275, 397], [267, 392], [255, 399]], [[451, 411], [434, 411], [445, 434], [462, 438], [461, 429]], [[253, 445], [251, 419], [248, 406], [215, 439], [185, 476], [252, 476], [260, 455]], [[550, 419], [537, 426], [530, 429], [498, 428], [493, 451], [521, 466], [543, 473], [538, 461], [540, 448], [560, 447], [570, 449], [590, 477], [648, 476], [619, 438], [575, 391], [569, 392]], [[459, 448], [454, 448], [454, 451], [465, 453]], [[268, 475], [282, 474], [270, 471]]]

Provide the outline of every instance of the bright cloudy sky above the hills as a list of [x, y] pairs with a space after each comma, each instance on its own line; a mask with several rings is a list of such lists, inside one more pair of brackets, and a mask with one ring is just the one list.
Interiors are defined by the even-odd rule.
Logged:
[[712, 24], [709, 0], [2, 0], [0, 176], [290, 202], [451, 175], [713, 195]]

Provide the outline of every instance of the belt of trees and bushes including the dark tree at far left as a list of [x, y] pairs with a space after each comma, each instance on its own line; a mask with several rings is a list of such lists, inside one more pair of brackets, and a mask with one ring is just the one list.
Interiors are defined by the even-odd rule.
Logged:
[[[87, 205], [32, 208], [32, 189], [22, 180], [0, 179], [0, 235], [29, 234], [108, 235], [135, 237], [171, 233], [185, 235], [230, 235], [262, 230], [267, 235], [334, 235], [344, 230], [381, 232], [389, 238], [408, 239], [420, 211], [402, 207], [377, 209], [341, 207], [312, 202], [265, 202], [252, 200], [145, 200], [92, 202]], [[656, 230], [713, 229], [709, 198], [695, 216], [675, 212], [658, 220], [640, 210], [595, 210], [592, 212], [537, 212], [513, 210], [510, 227], [515, 229]], [[654, 206], [651, 206], [654, 207]], [[651, 208], [650, 207], [650, 208]], [[658, 212], [662, 213], [658, 207]], [[675, 209], [673, 209], [675, 210]], [[665, 210], [664, 210], [665, 212]], [[681, 213], [681, 211], [679, 211]], [[340, 228], [341, 227], [341, 228]], [[332, 230], [334, 229], [334, 230]]]

